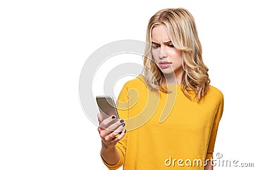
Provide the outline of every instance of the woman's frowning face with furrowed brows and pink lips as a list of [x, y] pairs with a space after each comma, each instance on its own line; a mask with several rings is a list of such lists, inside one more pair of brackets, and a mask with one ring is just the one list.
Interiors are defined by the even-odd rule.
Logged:
[[164, 24], [152, 29], [152, 55], [164, 74], [172, 74], [174, 71], [177, 76], [184, 72], [181, 51], [173, 46]]

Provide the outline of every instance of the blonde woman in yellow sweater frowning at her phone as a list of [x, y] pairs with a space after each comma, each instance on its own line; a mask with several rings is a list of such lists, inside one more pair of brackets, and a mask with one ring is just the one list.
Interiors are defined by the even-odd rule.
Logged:
[[183, 8], [158, 11], [147, 43], [144, 75], [125, 83], [118, 97], [122, 119], [98, 115], [102, 161], [109, 169], [213, 169], [207, 160], [223, 94], [209, 85], [193, 16]]

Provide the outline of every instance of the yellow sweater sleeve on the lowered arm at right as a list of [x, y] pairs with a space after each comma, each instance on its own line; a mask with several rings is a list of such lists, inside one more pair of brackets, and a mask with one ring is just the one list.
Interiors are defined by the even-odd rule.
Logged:
[[220, 123], [220, 119], [221, 119], [221, 116], [223, 113], [223, 106], [224, 106], [224, 99], [223, 99], [223, 94], [221, 93], [220, 103], [216, 110], [216, 115], [215, 115], [214, 122], [212, 125], [211, 137], [209, 139], [208, 149], [207, 149], [207, 153], [206, 153], [206, 157], [205, 157], [206, 160], [213, 159], [212, 153], [214, 152], [214, 145], [215, 145], [215, 141], [216, 141], [218, 125]]

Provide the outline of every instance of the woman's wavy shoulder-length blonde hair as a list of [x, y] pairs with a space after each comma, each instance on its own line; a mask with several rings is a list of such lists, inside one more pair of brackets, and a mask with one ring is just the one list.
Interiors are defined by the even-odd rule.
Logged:
[[164, 74], [157, 67], [151, 53], [151, 34], [154, 26], [164, 24], [170, 33], [173, 46], [182, 53], [181, 89], [184, 94], [192, 99], [191, 91], [195, 92], [196, 101], [204, 97], [209, 89], [208, 68], [202, 60], [202, 46], [198, 38], [195, 20], [191, 13], [184, 8], [168, 8], [158, 11], [153, 15], [147, 26], [147, 46], [143, 56], [143, 73], [150, 89], [168, 92]]

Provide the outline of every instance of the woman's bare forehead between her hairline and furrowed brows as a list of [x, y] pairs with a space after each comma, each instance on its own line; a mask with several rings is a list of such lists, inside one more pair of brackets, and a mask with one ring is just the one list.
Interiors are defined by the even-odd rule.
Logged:
[[170, 41], [168, 34], [168, 29], [164, 24], [159, 24], [153, 27], [152, 29], [152, 41]]

